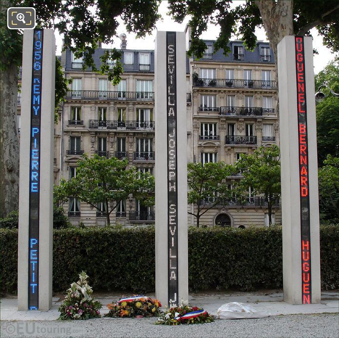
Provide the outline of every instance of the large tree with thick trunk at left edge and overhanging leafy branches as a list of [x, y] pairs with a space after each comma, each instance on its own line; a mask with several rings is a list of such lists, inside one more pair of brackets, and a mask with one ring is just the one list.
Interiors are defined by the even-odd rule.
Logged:
[[[19, 205], [19, 139], [16, 126], [18, 67], [22, 59], [22, 31], [7, 28], [8, 7], [34, 7], [37, 27], [58, 29], [64, 35], [64, 47], [77, 57], [83, 56], [83, 67], [106, 72], [114, 84], [120, 81], [120, 53], [104, 53], [97, 69], [93, 54], [98, 42], [111, 43], [117, 37], [120, 17], [128, 32], [139, 37], [150, 33], [160, 19], [158, 0], [1, 0], [0, 1], [0, 214], [18, 209]], [[107, 60], [118, 60], [111, 70]], [[56, 67], [58, 70], [58, 67]], [[59, 73], [57, 71], [56, 79]], [[64, 85], [63, 85], [64, 84]], [[67, 83], [56, 83], [64, 89]], [[57, 95], [56, 101], [59, 97]]]

